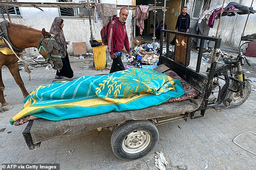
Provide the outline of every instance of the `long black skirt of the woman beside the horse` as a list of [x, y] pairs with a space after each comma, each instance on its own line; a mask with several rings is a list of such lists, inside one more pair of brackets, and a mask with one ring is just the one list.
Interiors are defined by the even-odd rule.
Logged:
[[74, 72], [70, 66], [70, 62], [69, 62], [69, 56], [66, 53], [66, 57], [61, 57], [62, 60], [62, 68], [61, 70], [57, 70], [56, 75], [57, 76], [63, 76], [63, 77], [67, 77], [67, 78], [72, 78], [74, 76]]

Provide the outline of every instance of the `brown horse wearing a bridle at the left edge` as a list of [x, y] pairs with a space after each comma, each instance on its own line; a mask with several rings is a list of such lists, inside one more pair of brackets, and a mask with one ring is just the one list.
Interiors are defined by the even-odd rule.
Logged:
[[[45, 29], [36, 30], [24, 25], [14, 23], [6, 23], [8, 38], [10, 42], [18, 49], [25, 49], [29, 47], [37, 47], [39, 53], [52, 64], [54, 69], [62, 68], [62, 61], [59, 55], [58, 45], [51, 37], [50, 33]], [[52, 45], [55, 44], [55, 45]], [[57, 46], [56, 46], [57, 45]], [[49, 47], [50, 46], [50, 47]], [[19, 56], [19, 55], [18, 55]], [[19, 59], [13, 55], [4, 55], [0, 52], [0, 102], [2, 104], [0, 111], [11, 109], [10, 105], [4, 99], [4, 83], [2, 81], [2, 66], [7, 66], [21, 89], [24, 98], [29, 94], [24, 86], [24, 83], [19, 74]]]

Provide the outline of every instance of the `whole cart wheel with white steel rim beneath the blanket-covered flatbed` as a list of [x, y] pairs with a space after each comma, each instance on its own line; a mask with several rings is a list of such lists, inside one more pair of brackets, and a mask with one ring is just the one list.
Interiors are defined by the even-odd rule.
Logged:
[[122, 160], [135, 160], [151, 152], [159, 133], [150, 121], [129, 121], [118, 127], [111, 136], [111, 148]]

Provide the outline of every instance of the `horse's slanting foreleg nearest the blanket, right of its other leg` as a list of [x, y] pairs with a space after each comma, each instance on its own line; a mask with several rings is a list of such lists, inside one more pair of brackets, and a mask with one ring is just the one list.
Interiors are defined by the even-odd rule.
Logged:
[[10, 63], [6, 66], [10, 70], [10, 73], [12, 74], [15, 82], [18, 84], [19, 88], [21, 89], [23, 97], [26, 98], [29, 95], [29, 93], [27, 92], [27, 89], [25, 88], [25, 85], [21, 79], [21, 75], [19, 74], [18, 62]]

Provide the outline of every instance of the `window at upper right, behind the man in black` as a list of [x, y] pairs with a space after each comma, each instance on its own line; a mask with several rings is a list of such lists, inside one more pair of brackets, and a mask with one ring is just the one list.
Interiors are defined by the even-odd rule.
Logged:
[[[193, 10], [191, 13], [192, 18], [199, 18], [199, 16], [207, 9], [207, 1], [208, 0], [194, 0]], [[211, 0], [209, 0], [209, 6], [211, 4]]]

